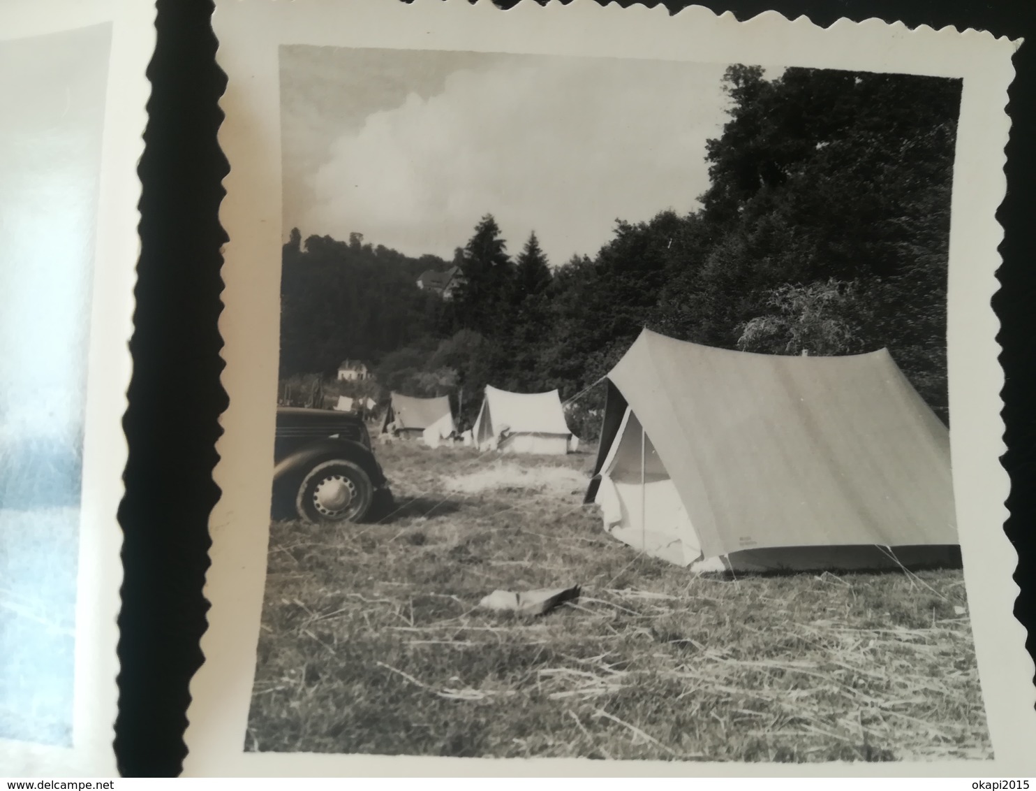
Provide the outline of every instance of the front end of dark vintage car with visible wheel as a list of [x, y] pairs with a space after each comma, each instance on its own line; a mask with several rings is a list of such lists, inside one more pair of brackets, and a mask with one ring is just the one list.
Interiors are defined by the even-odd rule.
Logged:
[[392, 504], [356, 415], [278, 406], [274, 513], [311, 522], [364, 521]]

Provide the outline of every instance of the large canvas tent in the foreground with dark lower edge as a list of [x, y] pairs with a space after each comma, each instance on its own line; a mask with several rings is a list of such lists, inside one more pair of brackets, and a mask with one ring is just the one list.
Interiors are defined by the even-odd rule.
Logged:
[[700, 570], [958, 562], [949, 432], [886, 349], [782, 357], [644, 330], [607, 374], [587, 502]]

